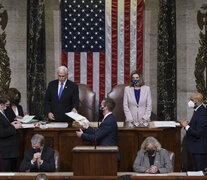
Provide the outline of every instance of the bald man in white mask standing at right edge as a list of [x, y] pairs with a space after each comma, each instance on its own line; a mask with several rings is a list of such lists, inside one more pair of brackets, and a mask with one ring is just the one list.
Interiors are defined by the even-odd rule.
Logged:
[[204, 170], [207, 167], [207, 109], [203, 105], [203, 96], [194, 93], [188, 103], [194, 109], [190, 123], [182, 120], [187, 138], [187, 149], [192, 153], [196, 170]]

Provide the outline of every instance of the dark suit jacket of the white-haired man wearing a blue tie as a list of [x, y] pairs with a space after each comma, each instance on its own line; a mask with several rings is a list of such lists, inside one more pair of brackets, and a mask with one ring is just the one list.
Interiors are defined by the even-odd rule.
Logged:
[[71, 119], [65, 113], [70, 112], [73, 108], [78, 110], [79, 107], [78, 85], [67, 80], [59, 100], [58, 82], [58, 80], [54, 80], [48, 85], [45, 95], [45, 113], [48, 115], [49, 112], [52, 112], [55, 121], [68, 121]]

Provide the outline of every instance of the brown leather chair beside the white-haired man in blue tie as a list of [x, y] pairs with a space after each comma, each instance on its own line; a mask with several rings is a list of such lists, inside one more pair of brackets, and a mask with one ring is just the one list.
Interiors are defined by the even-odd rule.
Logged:
[[78, 84], [79, 109], [78, 113], [85, 116], [89, 121], [95, 121], [95, 97], [96, 93], [86, 84]]

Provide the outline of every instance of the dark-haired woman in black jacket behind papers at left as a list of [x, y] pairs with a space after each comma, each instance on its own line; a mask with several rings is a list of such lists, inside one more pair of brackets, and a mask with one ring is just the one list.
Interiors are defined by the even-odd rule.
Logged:
[[[22, 119], [24, 117], [24, 112], [22, 106], [19, 104], [21, 101], [21, 93], [16, 88], [9, 88], [7, 96], [10, 101], [10, 106], [5, 110], [5, 114], [9, 121]], [[25, 113], [28, 114], [28, 113]]]

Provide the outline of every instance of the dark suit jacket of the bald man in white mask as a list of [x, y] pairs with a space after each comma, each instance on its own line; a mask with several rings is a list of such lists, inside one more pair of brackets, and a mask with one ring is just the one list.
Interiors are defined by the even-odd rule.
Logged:
[[207, 153], [207, 109], [201, 105], [194, 112], [186, 132], [187, 148], [191, 153]]

